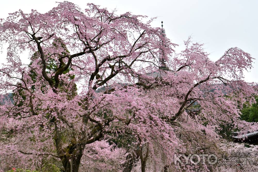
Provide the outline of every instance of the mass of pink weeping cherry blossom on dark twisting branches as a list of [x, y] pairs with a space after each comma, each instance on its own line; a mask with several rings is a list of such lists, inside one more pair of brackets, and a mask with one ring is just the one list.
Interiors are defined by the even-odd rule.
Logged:
[[0, 169], [235, 168], [174, 165], [174, 154], [251, 150], [218, 132], [221, 124], [258, 129], [239, 110], [255, 102], [257, 87], [243, 75], [253, 58], [232, 47], [214, 62], [190, 37], [175, 53], [177, 45], [146, 18], [65, 1], [44, 14], [19, 10], [1, 19], [0, 45], [8, 48], [0, 68]]

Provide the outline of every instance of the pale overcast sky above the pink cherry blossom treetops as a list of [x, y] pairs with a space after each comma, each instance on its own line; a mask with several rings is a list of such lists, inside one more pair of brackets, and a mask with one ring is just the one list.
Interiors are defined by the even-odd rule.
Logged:
[[[29, 13], [31, 9], [41, 13], [56, 6], [60, 0], [9, 0], [0, 2], [0, 18], [19, 9]], [[173, 43], [182, 45], [183, 40], [192, 35], [194, 41], [205, 44], [210, 58], [216, 60], [230, 47], [239, 47], [250, 53], [254, 60], [254, 68], [246, 73], [246, 81], [258, 82], [258, 1], [238, 0], [196, 0], [196, 1], [157, 1], [157, 0], [70, 0], [82, 9], [87, 3], [94, 3], [109, 10], [116, 8], [118, 13], [127, 11], [133, 14], [158, 17], [152, 23], [160, 27], [161, 21], [167, 37]], [[176, 50], [181, 50], [180, 47]], [[1, 59], [4, 54], [1, 54]], [[2, 60], [1, 60], [2, 61]]]

